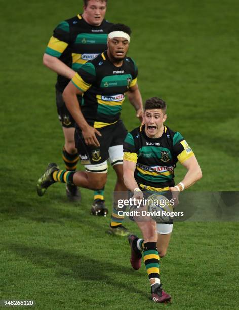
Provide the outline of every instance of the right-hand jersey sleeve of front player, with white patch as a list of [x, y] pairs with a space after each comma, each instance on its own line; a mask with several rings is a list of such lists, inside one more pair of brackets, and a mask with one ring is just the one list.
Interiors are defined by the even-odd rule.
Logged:
[[173, 148], [175, 156], [181, 164], [194, 155], [192, 149], [179, 132], [174, 134]]

